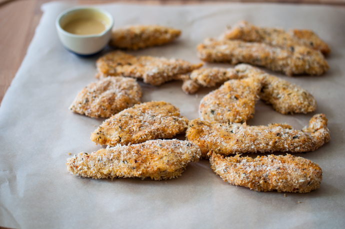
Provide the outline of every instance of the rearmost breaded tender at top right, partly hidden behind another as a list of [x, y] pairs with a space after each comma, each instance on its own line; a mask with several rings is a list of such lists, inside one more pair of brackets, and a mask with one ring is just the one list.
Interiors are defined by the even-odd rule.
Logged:
[[330, 48], [313, 31], [308, 29], [290, 29], [257, 27], [247, 21], [239, 21], [227, 29], [221, 39], [241, 39], [248, 42], [263, 42], [273, 46], [294, 47], [306, 46], [327, 55]]

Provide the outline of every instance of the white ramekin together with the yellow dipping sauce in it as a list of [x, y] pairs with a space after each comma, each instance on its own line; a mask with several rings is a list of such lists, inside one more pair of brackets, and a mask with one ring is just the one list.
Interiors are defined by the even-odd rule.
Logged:
[[114, 19], [105, 10], [74, 7], [56, 18], [58, 37], [63, 46], [81, 56], [101, 51], [109, 42]]

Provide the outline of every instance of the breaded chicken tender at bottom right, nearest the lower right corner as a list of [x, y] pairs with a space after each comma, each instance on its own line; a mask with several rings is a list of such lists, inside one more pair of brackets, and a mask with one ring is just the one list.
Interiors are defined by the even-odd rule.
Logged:
[[225, 157], [212, 153], [211, 168], [224, 181], [256, 191], [309, 192], [320, 186], [322, 170], [318, 164], [287, 154]]

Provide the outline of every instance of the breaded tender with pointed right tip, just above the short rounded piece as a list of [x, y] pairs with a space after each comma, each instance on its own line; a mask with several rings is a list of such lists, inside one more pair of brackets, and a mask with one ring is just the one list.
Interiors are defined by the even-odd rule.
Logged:
[[123, 75], [142, 78], [145, 83], [158, 86], [202, 66], [182, 59], [167, 59], [153, 56], [133, 56], [122, 51], [109, 52], [96, 61], [98, 74]]

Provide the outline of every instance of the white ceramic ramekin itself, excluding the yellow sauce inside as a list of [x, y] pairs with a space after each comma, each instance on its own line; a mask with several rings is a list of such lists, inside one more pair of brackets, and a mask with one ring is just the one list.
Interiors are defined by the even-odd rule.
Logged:
[[[62, 29], [69, 21], [80, 18], [98, 18], [106, 24], [106, 28], [101, 33], [90, 35], [76, 35]], [[109, 12], [92, 7], [67, 9], [58, 15], [55, 22], [57, 34], [63, 46], [67, 50], [82, 56], [93, 55], [106, 46], [111, 37], [113, 24], [114, 19]]]

